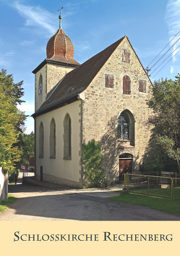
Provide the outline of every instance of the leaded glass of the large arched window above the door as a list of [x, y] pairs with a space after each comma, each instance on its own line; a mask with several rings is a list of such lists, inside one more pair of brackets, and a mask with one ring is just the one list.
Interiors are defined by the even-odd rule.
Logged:
[[118, 117], [118, 138], [129, 140], [129, 117], [125, 112]]

